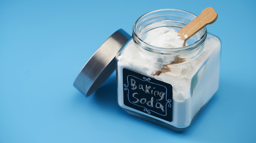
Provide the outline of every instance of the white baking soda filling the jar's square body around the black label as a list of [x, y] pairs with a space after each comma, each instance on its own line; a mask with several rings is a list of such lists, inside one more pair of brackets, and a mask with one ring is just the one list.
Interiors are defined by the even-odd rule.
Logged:
[[[170, 31], [170, 28], [161, 27], [150, 30], [141, 39], [151, 43], [165, 31]], [[149, 55], [146, 58], [141, 56], [133, 40], [126, 45], [121, 54], [117, 56], [118, 103], [125, 109], [156, 118], [124, 105], [122, 69], [126, 68], [171, 84], [173, 87], [172, 122], [159, 118], [158, 120], [177, 128], [188, 127], [196, 114], [202, 110], [218, 89], [220, 40], [208, 34], [203, 51], [199, 56], [179, 64], [168, 65], [170, 72], [162, 72], [159, 76], [152, 76], [151, 74], [159, 71], [164, 64], [159, 62], [160, 58], [161, 55]], [[170, 63], [171, 61], [166, 62]]]

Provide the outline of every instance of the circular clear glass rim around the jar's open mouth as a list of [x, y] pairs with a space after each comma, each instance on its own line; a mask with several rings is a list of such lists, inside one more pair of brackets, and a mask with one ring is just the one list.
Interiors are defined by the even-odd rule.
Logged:
[[[158, 10], [154, 10], [154, 11], [150, 11], [142, 16], [140, 16], [136, 22], [134, 23], [133, 25], [133, 33], [132, 33], [132, 37], [133, 37], [133, 40], [136, 42], [136, 43], [142, 43], [143, 46], [141, 46], [143, 49], [146, 49], [148, 51], [151, 51], [151, 52], [154, 52], [154, 53], [165, 53], [167, 54], [166, 52], [175, 52], [175, 53], [180, 53], [180, 52], [184, 52], [184, 51], [191, 51], [193, 49], [195, 49], [196, 47], [198, 47], [199, 45], [201, 45], [204, 40], [206, 39], [206, 36], [207, 36], [207, 30], [206, 30], [206, 27], [203, 27], [203, 29], [201, 29], [200, 31], [202, 31], [202, 36], [197, 40], [195, 41], [194, 43], [192, 44], [189, 44], [187, 46], [183, 46], [183, 47], [178, 47], [178, 48], [163, 48], [163, 47], [157, 47], [157, 46], [152, 46], [148, 43], [146, 43], [145, 41], [141, 40], [137, 34], [137, 31], [136, 31], [136, 27], [138, 26], [139, 22], [143, 20], [143, 18], [145, 18], [146, 16], [152, 14], [152, 13], [155, 13], [155, 12], [160, 12], [160, 11], [179, 11], [179, 12], [183, 12], [183, 13], [186, 13], [186, 14], [189, 14], [191, 16], [194, 16], [195, 18], [197, 17], [197, 15], [191, 13], [191, 12], [188, 12], [188, 11], [185, 11], [185, 10], [181, 10], [181, 9], [173, 9], [173, 8], [166, 8], [166, 9], [158, 9]], [[184, 17], [186, 18], [186, 17]], [[192, 19], [193, 20], [193, 19]], [[192, 21], [191, 20], [191, 21]], [[147, 47], [147, 48], [145, 48]], [[162, 52], [156, 52], [156, 51], [162, 51]]]

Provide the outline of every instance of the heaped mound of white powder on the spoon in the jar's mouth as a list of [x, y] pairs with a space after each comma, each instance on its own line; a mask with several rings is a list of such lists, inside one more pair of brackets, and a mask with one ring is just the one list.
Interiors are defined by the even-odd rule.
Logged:
[[175, 31], [169, 31], [160, 35], [157, 39], [151, 41], [150, 45], [161, 48], [179, 48], [182, 47], [184, 40], [178, 36], [179, 33]]

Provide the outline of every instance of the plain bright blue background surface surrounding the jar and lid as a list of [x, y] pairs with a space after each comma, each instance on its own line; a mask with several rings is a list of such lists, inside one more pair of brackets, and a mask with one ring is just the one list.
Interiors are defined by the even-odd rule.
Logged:
[[[256, 142], [255, 1], [0, 1], [0, 142]], [[222, 40], [220, 86], [195, 122], [175, 133], [124, 112], [115, 72], [90, 97], [73, 82], [116, 30], [132, 34], [162, 8], [199, 15]]]

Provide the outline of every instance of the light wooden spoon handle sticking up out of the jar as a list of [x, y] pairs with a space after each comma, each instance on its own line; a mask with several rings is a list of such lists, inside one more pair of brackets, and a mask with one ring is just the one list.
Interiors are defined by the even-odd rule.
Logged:
[[198, 31], [203, 29], [204, 26], [208, 24], [213, 24], [217, 20], [217, 18], [218, 14], [212, 7], [205, 8], [198, 17], [196, 17], [189, 24], [184, 26], [180, 31], [178, 31], [178, 33], [181, 35], [188, 35], [187, 38], [181, 36], [182, 40], [186, 41], [193, 35], [195, 35]]

